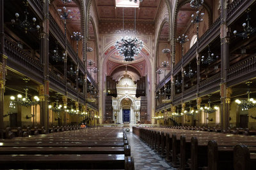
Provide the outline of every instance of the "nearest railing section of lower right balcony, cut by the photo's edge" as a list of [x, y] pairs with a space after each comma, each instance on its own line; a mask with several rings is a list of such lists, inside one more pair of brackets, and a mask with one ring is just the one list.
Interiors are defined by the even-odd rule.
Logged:
[[237, 78], [243, 74], [250, 73], [256, 70], [256, 54], [247, 57], [246, 59], [237, 62], [235, 66], [227, 70], [228, 80]]

